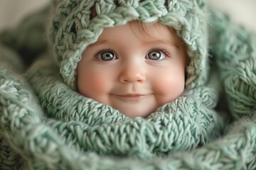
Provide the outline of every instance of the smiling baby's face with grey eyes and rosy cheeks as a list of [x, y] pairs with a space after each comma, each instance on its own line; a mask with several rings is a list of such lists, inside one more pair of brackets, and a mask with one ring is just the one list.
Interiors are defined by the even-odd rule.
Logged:
[[131, 118], [173, 101], [185, 86], [186, 50], [161, 23], [105, 28], [78, 62], [78, 91]]

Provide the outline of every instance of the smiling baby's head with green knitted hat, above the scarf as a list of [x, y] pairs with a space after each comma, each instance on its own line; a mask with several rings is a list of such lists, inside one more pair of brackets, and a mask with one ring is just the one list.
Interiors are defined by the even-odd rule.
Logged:
[[83, 96], [147, 118], [205, 84], [204, 1], [55, 2], [60, 74]]

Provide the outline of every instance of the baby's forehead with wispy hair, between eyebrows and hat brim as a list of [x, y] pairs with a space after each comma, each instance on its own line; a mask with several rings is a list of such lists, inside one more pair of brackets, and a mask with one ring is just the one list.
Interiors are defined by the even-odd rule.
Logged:
[[[184, 48], [183, 40], [178, 37], [173, 28], [161, 23], [142, 23], [141, 21], [130, 21], [123, 26], [104, 28], [97, 41], [89, 46], [95, 47], [96, 45], [101, 45], [103, 42], [118, 42], [123, 34], [130, 32], [134, 33], [137, 37], [136, 39], [144, 44], [157, 45], [161, 43], [177, 48]], [[129, 41], [131, 40], [129, 39]]]

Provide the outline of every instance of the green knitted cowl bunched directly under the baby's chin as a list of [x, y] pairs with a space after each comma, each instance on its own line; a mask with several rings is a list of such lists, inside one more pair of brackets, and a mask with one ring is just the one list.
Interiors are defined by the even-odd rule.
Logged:
[[203, 92], [198, 96], [208, 98], [210, 108], [191, 92], [162, 106], [147, 119], [131, 119], [71, 90], [58, 77], [56, 68], [39, 61], [28, 76], [47, 116], [56, 119], [49, 125], [75, 150], [148, 158], [191, 150], [220, 134], [223, 121], [210, 109], [216, 98], [214, 91], [206, 87], [195, 91]]

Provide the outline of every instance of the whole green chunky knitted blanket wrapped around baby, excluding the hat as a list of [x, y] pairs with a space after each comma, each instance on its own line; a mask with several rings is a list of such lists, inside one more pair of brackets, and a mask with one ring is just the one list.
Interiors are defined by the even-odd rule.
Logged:
[[71, 90], [47, 53], [24, 72], [1, 47], [0, 169], [256, 169], [256, 35], [212, 14], [217, 75], [146, 119]]

